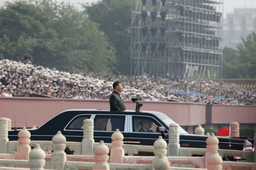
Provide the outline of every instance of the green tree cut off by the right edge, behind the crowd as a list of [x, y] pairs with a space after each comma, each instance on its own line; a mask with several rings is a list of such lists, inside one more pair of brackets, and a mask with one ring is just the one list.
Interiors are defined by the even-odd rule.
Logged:
[[243, 78], [256, 79], [256, 34], [252, 32], [246, 39], [242, 38], [243, 43], [237, 46], [239, 50], [239, 74]]

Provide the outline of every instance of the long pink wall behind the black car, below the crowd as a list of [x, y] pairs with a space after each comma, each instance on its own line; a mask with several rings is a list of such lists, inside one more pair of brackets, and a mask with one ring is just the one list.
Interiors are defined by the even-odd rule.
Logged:
[[[187, 102], [143, 101], [141, 110], [163, 112], [181, 126], [205, 124], [205, 104]], [[135, 103], [125, 101], [125, 107], [135, 109]], [[16, 127], [39, 127], [53, 116], [67, 109], [109, 110], [108, 100], [79, 100], [53, 98], [0, 98], [0, 117], [7, 117]], [[241, 114], [243, 113], [243, 114]], [[26, 116], [25, 116], [26, 115]], [[256, 106], [212, 106], [212, 123], [256, 123]], [[27, 123], [26, 123], [27, 122]], [[26, 125], [27, 124], [27, 125]]]

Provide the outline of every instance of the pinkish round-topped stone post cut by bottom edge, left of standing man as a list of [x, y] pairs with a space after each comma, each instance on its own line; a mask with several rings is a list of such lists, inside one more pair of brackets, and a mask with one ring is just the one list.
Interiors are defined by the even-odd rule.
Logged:
[[108, 146], [103, 141], [100, 141], [100, 144], [94, 147], [95, 164], [92, 166], [92, 170], [109, 170], [108, 153]]

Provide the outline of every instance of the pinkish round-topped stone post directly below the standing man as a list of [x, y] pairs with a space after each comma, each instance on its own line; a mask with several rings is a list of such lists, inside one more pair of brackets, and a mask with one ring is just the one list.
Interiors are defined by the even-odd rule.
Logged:
[[112, 148], [110, 150], [110, 162], [111, 163], [123, 163], [124, 149], [124, 136], [116, 129], [116, 132], [111, 135]]

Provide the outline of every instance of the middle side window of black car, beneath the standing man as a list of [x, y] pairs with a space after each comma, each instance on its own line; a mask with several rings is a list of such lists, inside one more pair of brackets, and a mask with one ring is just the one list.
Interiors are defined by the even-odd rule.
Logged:
[[124, 131], [125, 115], [96, 115], [94, 130], [97, 131]]

